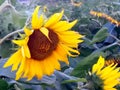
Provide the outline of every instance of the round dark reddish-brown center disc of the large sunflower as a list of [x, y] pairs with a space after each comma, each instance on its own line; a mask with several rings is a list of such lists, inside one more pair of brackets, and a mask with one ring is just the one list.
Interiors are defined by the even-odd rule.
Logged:
[[49, 30], [49, 39], [40, 30], [34, 30], [28, 41], [31, 58], [35, 60], [45, 59], [56, 49], [59, 41], [58, 35]]

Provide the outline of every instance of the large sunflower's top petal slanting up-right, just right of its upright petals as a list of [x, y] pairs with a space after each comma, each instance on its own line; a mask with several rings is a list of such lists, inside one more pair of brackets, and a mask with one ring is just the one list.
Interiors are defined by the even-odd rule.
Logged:
[[61, 13], [55, 13], [53, 14], [48, 21], [45, 23], [45, 27], [51, 27], [52, 25], [56, 24], [63, 16], [64, 10], [61, 11]]

